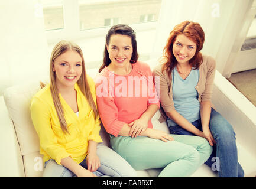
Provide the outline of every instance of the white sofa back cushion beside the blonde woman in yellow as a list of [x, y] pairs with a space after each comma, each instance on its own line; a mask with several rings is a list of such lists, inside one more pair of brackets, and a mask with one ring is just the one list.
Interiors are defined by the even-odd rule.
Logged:
[[14, 123], [21, 155], [38, 152], [40, 149], [39, 139], [30, 117], [31, 99], [38, 90], [39, 82], [9, 87], [4, 91], [5, 105]]

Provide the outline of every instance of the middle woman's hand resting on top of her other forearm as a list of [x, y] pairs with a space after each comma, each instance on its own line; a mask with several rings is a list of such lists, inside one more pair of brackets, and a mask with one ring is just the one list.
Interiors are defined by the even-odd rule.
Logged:
[[143, 118], [136, 119], [134, 122], [129, 123], [128, 126], [131, 126], [129, 136], [137, 137], [138, 135], [140, 135], [140, 133], [144, 132], [145, 129], [147, 129], [148, 120]]

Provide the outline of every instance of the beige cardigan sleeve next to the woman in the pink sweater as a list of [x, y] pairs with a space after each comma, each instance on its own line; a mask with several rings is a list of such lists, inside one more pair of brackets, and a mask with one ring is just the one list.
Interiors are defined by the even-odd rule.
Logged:
[[[174, 102], [173, 102], [173, 94], [172, 90], [170, 89], [170, 83], [168, 83], [167, 73], [164, 71], [162, 73], [161, 65], [158, 65], [153, 70], [153, 78], [155, 82], [155, 88], [157, 89], [157, 94], [160, 99], [161, 107], [163, 108], [164, 112], [170, 112], [175, 110]], [[170, 90], [169, 90], [170, 89]]]

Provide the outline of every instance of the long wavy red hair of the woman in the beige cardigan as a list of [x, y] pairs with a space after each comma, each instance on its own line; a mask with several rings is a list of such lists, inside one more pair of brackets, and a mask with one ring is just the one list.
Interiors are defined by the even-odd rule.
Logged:
[[202, 53], [200, 50], [203, 48], [203, 42], [205, 41], [205, 32], [203, 32], [200, 24], [192, 21], [184, 21], [173, 28], [168, 37], [167, 44], [163, 50], [163, 61], [162, 71], [167, 70], [170, 76], [171, 71], [177, 66], [177, 60], [173, 54], [173, 43], [176, 40], [177, 35], [184, 34], [186, 37], [190, 38], [194, 43], [196, 43], [196, 53], [189, 60], [189, 64], [192, 69], [198, 69], [203, 61]]

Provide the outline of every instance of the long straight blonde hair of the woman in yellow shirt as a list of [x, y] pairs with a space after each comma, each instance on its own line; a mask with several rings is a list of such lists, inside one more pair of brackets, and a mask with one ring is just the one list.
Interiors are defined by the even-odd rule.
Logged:
[[[89, 103], [90, 107], [92, 108], [93, 113], [95, 115], [95, 119], [98, 116], [98, 110], [97, 110], [96, 104], [93, 100], [92, 93], [90, 92], [90, 87], [89, 87], [88, 80], [86, 77], [85, 61], [83, 58], [82, 50], [77, 44], [72, 43], [71, 41], [62, 40], [55, 45], [55, 47], [53, 48], [53, 51], [51, 52], [50, 91], [51, 91], [51, 96], [53, 97], [53, 103], [54, 103], [54, 107], [57, 112], [57, 116], [59, 118], [60, 126], [64, 133], [69, 133], [69, 131], [67, 131], [67, 122], [66, 122], [66, 119], [64, 118], [63, 107], [60, 103], [59, 95], [57, 93], [56, 73], [53, 71], [53, 63], [54, 63], [54, 60], [58, 56], [65, 53], [67, 50], [76, 51], [77, 53], [79, 53], [79, 55], [82, 58], [82, 74], [81, 74], [79, 80], [77, 81], [77, 85], [79, 86], [83, 95], [85, 95], [86, 99], [88, 100], [88, 103]], [[40, 82], [40, 85], [41, 85], [41, 87], [45, 86], [45, 84], [43, 84], [42, 82]]]

